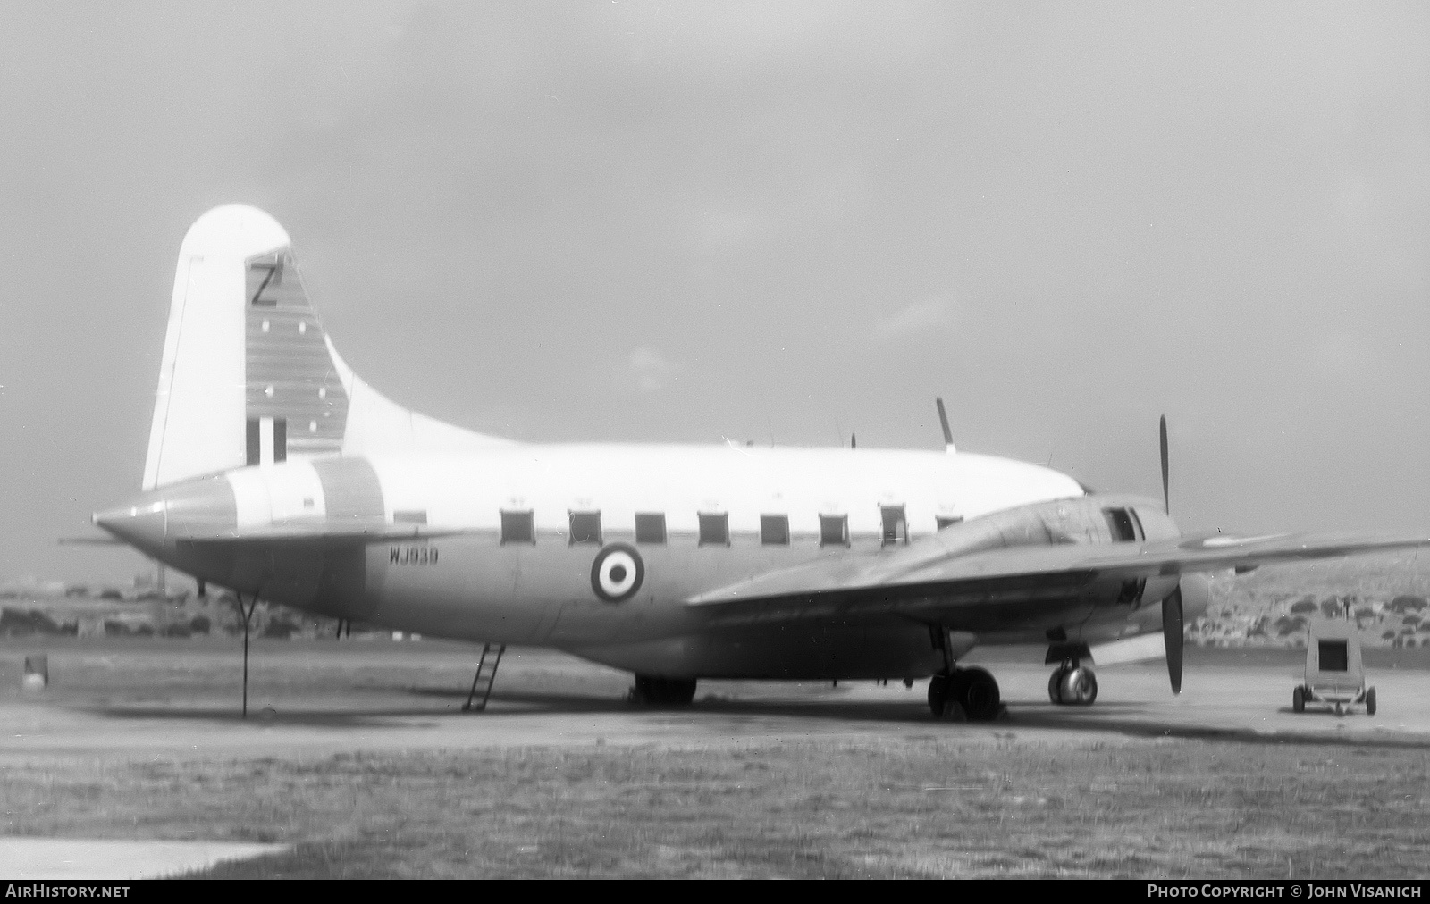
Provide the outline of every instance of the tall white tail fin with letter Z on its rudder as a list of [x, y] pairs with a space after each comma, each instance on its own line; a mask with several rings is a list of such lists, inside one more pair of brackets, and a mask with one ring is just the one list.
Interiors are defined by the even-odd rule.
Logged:
[[143, 489], [287, 458], [508, 442], [410, 412], [363, 383], [327, 339], [273, 217], [227, 205], [189, 229]]

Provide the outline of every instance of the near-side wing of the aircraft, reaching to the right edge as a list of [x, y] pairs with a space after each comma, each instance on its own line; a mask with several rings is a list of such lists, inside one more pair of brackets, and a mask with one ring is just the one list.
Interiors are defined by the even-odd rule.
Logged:
[[1145, 544], [1057, 544], [950, 552], [925, 541], [892, 555], [821, 559], [699, 594], [686, 605], [715, 624], [879, 612], [937, 622], [974, 605], [1067, 601], [1100, 579], [1254, 568], [1430, 544], [1423, 535], [1276, 534]]

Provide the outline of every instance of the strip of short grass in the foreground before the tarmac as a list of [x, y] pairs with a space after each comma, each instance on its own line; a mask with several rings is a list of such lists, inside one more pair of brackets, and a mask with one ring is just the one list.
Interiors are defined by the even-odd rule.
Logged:
[[[0, 765], [4, 832], [269, 841], [207, 877], [1424, 877], [1423, 748], [506, 748]], [[162, 805], [157, 805], [160, 804]]]

